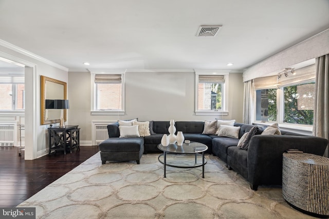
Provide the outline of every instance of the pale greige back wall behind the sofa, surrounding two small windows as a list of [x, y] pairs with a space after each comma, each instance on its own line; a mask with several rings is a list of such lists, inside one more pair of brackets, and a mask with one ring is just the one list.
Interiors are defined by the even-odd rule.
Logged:
[[80, 140], [92, 140], [92, 121], [212, 121], [242, 122], [242, 73], [229, 74], [229, 115], [195, 115], [195, 74], [191, 72], [125, 73], [125, 115], [90, 115], [90, 73], [68, 73], [68, 123], [79, 125]]

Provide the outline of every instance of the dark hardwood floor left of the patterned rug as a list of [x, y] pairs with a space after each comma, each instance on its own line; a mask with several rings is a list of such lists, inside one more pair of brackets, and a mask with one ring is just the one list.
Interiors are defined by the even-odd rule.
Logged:
[[97, 153], [98, 146], [80, 146], [72, 153], [57, 151], [33, 161], [20, 148], [0, 147], [0, 206], [15, 207]]

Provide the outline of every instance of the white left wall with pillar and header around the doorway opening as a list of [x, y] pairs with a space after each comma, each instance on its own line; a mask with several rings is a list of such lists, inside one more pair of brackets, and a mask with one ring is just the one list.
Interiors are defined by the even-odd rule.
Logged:
[[33, 160], [46, 154], [48, 146], [46, 133], [49, 125], [41, 125], [40, 75], [67, 82], [67, 70], [49, 61], [46, 64], [45, 59], [38, 59], [38, 56], [13, 45], [0, 45], [0, 56], [31, 67], [25, 70], [25, 160]]

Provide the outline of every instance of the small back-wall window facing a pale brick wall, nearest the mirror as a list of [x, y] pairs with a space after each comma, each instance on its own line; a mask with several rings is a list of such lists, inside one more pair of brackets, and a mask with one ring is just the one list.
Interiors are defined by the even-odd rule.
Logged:
[[94, 92], [92, 114], [124, 113], [124, 74], [92, 74]]

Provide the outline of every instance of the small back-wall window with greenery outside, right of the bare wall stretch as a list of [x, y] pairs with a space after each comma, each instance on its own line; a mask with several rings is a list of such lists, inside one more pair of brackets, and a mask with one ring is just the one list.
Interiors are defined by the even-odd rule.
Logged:
[[226, 114], [228, 74], [196, 71], [196, 114]]

